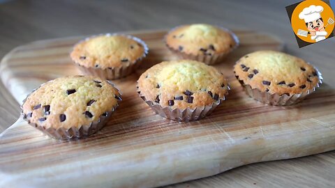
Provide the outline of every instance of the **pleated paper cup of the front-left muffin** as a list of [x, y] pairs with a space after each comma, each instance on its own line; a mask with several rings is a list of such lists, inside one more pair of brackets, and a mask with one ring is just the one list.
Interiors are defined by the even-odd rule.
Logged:
[[[113, 87], [114, 85], [107, 81], [109, 84], [111, 84]], [[43, 86], [44, 84], [40, 85]], [[40, 88], [40, 86], [38, 88]], [[34, 89], [31, 93], [36, 91], [38, 88]], [[115, 88], [115, 87], [114, 87]], [[117, 89], [117, 88], [116, 88]], [[119, 89], [117, 89], [119, 91]], [[29, 95], [31, 95], [31, 93]], [[119, 93], [121, 98], [121, 93]], [[91, 134], [94, 134], [98, 132], [98, 130], [101, 130], [103, 126], [107, 123], [107, 121], [110, 119], [110, 116], [112, 116], [112, 113], [117, 109], [119, 104], [115, 105], [110, 109], [109, 111], [106, 111], [105, 116], [100, 116], [97, 120], [94, 120], [89, 125], [81, 125], [80, 127], [70, 127], [69, 129], [65, 129], [63, 127], [59, 127], [58, 129], [55, 129], [53, 127], [45, 129], [45, 127], [41, 125], [37, 125], [36, 123], [31, 123], [30, 120], [27, 117], [24, 117], [23, 113], [23, 104], [26, 102], [27, 97], [23, 100], [23, 103], [21, 105], [21, 116], [24, 120], [28, 122], [29, 125], [35, 127], [36, 129], [40, 130], [44, 134], [47, 134], [48, 136], [52, 137], [53, 139], [59, 139], [59, 140], [75, 140], [75, 139], [83, 139]]]

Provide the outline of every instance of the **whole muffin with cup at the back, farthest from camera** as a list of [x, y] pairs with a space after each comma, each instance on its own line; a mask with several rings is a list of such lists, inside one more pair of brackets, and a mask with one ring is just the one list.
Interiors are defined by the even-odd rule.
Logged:
[[165, 36], [165, 44], [181, 58], [214, 64], [232, 52], [239, 45], [239, 40], [228, 29], [192, 24], [172, 29]]

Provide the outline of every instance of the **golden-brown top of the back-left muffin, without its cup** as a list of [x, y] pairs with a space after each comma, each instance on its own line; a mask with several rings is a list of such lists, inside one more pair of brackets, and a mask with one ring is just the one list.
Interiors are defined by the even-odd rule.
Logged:
[[138, 38], [107, 34], [79, 42], [70, 56], [86, 68], [107, 69], [135, 63], [147, 51], [147, 45]]

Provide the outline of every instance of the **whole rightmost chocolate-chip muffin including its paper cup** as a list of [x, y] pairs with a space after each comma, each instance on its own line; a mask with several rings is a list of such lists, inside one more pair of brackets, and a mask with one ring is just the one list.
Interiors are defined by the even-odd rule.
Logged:
[[272, 105], [290, 105], [322, 84], [320, 72], [301, 58], [275, 51], [246, 54], [234, 65], [246, 93]]

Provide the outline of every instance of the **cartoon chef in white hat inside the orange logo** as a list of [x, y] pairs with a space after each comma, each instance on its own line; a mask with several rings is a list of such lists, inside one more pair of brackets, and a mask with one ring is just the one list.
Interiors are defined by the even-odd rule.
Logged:
[[315, 40], [315, 42], [325, 40], [327, 36], [325, 24], [323, 24], [323, 19], [320, 15], [322, 11], [322, 6], [311, 5], [299, 13], [299, 18], [304, 19], [308, 33], [311, 33], [311, 40]]

